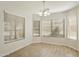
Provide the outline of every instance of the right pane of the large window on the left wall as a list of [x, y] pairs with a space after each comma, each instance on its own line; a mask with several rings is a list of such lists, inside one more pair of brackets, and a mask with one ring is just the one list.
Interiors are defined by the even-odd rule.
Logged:
[[24, 38], [24, 19], [17, 17], [16, 19], [16, 39]]

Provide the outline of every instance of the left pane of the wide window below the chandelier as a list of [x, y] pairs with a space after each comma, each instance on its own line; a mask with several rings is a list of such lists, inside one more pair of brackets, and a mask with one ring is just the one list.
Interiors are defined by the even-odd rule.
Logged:
[[42, 36], [51, 36], [51, 20], [42, 20]]

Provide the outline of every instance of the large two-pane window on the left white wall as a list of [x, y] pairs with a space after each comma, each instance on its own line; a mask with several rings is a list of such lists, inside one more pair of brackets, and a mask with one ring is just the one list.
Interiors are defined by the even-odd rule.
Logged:
[[24, 17], [8, 14], [4, 12], [4, 40], [11, 42], [14, 40], [24, 39]]

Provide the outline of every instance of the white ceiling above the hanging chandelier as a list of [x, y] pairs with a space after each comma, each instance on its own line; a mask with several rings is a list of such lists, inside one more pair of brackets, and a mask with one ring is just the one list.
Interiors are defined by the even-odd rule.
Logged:
[[[46, 8], [49, 8], [51, 12], [61, 12], [71, 9], [78, 4], [78, 1], [46, 1]], [[0, 5], [8, 7], [16, 6], [18, 9], [32, 10], [34, 12], [38, 12], [43, 8], [42, 1], [7, 1], [0, 2]]]

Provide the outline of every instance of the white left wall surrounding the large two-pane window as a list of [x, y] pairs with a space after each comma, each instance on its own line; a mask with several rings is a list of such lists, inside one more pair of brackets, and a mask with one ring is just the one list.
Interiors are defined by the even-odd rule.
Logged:
[[[6, 12], [25, 17], [25, 39], [5, 44], [4, 41], [4, 9]], [[0, 4], [0, 56], [8, 55], [32, 42], [32, 13], [21, 9], [17, 4]]]

